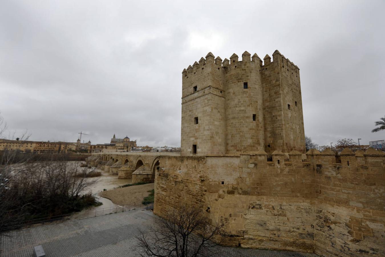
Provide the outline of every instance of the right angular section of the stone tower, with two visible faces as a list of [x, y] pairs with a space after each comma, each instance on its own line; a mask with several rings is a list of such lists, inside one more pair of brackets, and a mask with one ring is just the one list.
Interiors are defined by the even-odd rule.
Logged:
[[273, 53], [273, 62], [270, 59], [269, 55], [264, 57], [264, 66], [260, 71], [264, 101], [264, 149], [267, 153], [278, 149], [304, 153], [300, 69], [278, 50]]

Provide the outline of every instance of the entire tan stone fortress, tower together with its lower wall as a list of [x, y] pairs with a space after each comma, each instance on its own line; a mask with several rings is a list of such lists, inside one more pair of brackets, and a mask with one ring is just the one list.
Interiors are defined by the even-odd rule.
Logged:
[[304, 151], [298, 67], [209, 53], [182, 72], [181, 156], [159, 157], [154, 212], [226, 218], [226, 245], [385, 256], [384, 153]]

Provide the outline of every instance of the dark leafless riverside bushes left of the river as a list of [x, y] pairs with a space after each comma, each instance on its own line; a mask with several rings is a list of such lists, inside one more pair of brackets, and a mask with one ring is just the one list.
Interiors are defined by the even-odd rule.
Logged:
[[97, 206], [92, 193], [97, 171], [81, 168], [68, 156], [54, 161], [31, 161], [17, 151], [0, 153], [0, 235], [21, 227], [27, 220], [50, 218]]

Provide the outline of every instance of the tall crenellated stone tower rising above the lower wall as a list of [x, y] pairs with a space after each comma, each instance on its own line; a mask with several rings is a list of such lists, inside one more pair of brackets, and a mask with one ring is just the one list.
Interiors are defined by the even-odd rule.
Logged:
[[263, 60], [209, 52], [183, 70], [182, 155], [305, 153], [300, 69], [278, 50]]

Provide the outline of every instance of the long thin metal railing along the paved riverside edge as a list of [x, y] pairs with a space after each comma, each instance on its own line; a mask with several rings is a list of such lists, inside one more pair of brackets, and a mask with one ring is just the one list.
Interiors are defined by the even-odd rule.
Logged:
[[116, 205], [115, 207], [106, 207], [106, 208], [95, 207], [95, 210], [86, 210], [86, 211], [81, 211], [81, 212], [74, 212], [74, 213], [69, 213], [69, 214], [51, 216], [51, 217], [47, 217], [47, 218], [36, 218], [36, 219], [32, 219], [32, 220], [25, 220], [21, 224], [3, 227], [2, 230], [3, 231], [10, 231], [10, 230], [22, 228], [22, 227], [25, 227], [28, 225], [45, 223], [45, 222], [54, 222], [57, 220], [79, 220], [82, 218], [90, 218], [90, 217], [97, 217], [97, 216], [102, 216], [102, 215], [107, 215], [107, 214], [112, 214], [112, 213], [126, 212], [129, 210], [135, 210], [135, 209], [139, 209], [139, 208], [146, 208], [146, 210], [151, 210], [152, 208], [154, 208], [154, 203], [148, 203], [146, 205], [137, 204], [137, 205], [128, 205], [128, 206]]

